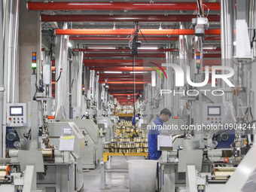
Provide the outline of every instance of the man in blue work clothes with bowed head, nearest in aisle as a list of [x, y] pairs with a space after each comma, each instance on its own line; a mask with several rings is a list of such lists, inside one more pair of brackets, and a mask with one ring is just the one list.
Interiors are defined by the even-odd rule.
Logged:
[[162, 154], [161, 151], [157, 151], [157, 136], [159, 135], [159, 126], [163, 126], [163, 123], [172, 117], [171, 111], [167, 108], [163, 108], [160, 111], [160, 116], [157, 117], [151, 124], [151, 129], [148, 133], [148, 159], [158, 160]]

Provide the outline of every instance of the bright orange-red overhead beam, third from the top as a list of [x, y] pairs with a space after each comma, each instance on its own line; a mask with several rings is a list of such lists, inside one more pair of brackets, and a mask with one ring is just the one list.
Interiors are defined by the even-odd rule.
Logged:
[[[131, 35], [135, 29], [55, 29], [56, 35]], [[141, 33], [142, 32], [142, 33]], [[141, 29], [139, 35], [194, 35], [194, 29]], [[206, 35], [221, 35], [221, 29], [210, 29]]]

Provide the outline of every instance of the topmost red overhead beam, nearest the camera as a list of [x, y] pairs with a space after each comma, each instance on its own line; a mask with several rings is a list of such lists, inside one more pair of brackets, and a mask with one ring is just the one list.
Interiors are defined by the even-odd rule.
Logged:
[[[209, 10], [220, 10], [220, 3], [204, 3]], [[190, 10], [196, 2], [27, 2], [28, 10]]]

